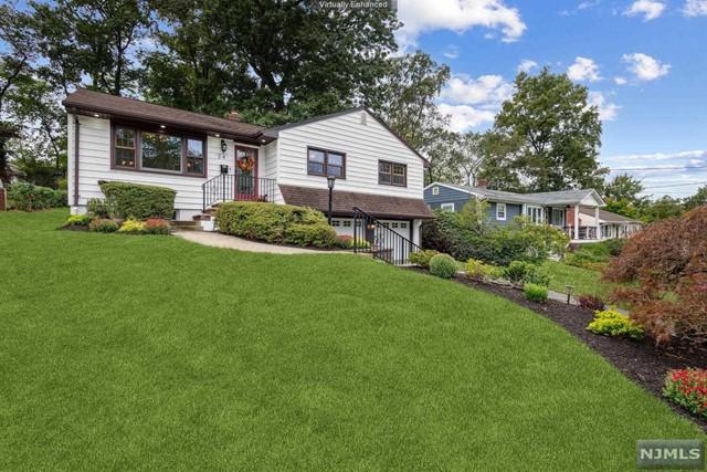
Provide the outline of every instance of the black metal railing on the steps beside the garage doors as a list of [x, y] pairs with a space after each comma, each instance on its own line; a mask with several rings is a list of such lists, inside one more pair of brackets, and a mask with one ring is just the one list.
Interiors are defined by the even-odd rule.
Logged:
[[422, 248], [388, 224], [354, 207], [354, 252], [370, 253], [394, 265], [409, 264], [410, 254], [422, 251]]

